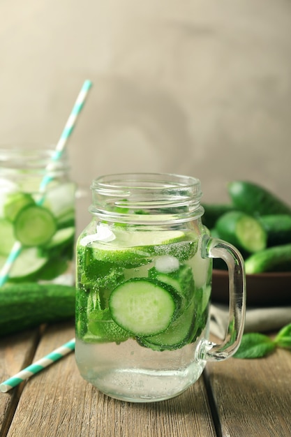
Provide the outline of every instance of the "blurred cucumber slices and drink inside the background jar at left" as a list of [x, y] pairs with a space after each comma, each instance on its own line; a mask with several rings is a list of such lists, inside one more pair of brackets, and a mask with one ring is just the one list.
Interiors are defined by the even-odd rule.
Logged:
[[18, 242], [8, 282], [73, 283], [74, 184], [52, 182], [41, 195], [22, 189], [15, 185], [0, 197], [0, 269]]

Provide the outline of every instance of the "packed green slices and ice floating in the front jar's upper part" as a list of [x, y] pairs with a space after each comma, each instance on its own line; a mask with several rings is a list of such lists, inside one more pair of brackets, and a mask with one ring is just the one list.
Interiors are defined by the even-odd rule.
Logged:
[[[95, 235], [81, 235], [77, 243], [77, 339], [88, 343], [132, 339], [152, 350], [157, 341], [163, 350], [195, 341], [191, 329], [197, 318], [202, 329], [207, 313], [207, 303], [202, 309], [195, 298], [205, 290], [209, 299], [211, 281], [210, 261], [202, 260], [205, 272], [200, 269], [200, 275], [205, 281], [201, 284], [198, 279], [199, 288], [195, 286], [193, 260], [201, 258], [197, 246], [198, 237], [180, 231], [130, 232], [118, 227], [112, 231], [103, 224]], [[98, 328], [100, 320], [107, 329]], [[197, 332], [201, 329], [197, 327]], [[163, 333], [165, 344], [157, 337]]]

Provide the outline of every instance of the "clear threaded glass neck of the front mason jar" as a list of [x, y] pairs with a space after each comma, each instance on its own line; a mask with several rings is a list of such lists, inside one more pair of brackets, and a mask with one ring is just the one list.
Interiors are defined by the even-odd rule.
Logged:
[[201, 184], [168, 173], [105, 175], [91, 184], [91, 214], [105, 221], [163, 224], [191, 221], [203, 214]]

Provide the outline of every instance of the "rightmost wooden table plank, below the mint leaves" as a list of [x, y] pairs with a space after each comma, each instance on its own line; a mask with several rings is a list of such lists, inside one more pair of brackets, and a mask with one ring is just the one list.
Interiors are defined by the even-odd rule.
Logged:
[[209, 363], [204, 378], [213, 393], [222, 436], [291, 436], [289, 350], [257, 360]]

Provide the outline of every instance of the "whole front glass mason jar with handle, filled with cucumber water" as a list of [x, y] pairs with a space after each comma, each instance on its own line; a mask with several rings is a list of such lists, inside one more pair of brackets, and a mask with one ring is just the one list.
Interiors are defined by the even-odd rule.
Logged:
[[[239, 347], [244, 261], [202, 225], [198, 179], [107, 175], [91, 190], [91, 223], [77, 241], [77, 366], [116, 399], [175, 397], [207, 360], [225, 360]], [[223, 258], [230, 276], [222, 344], [209, 341], [211, 258]]]

